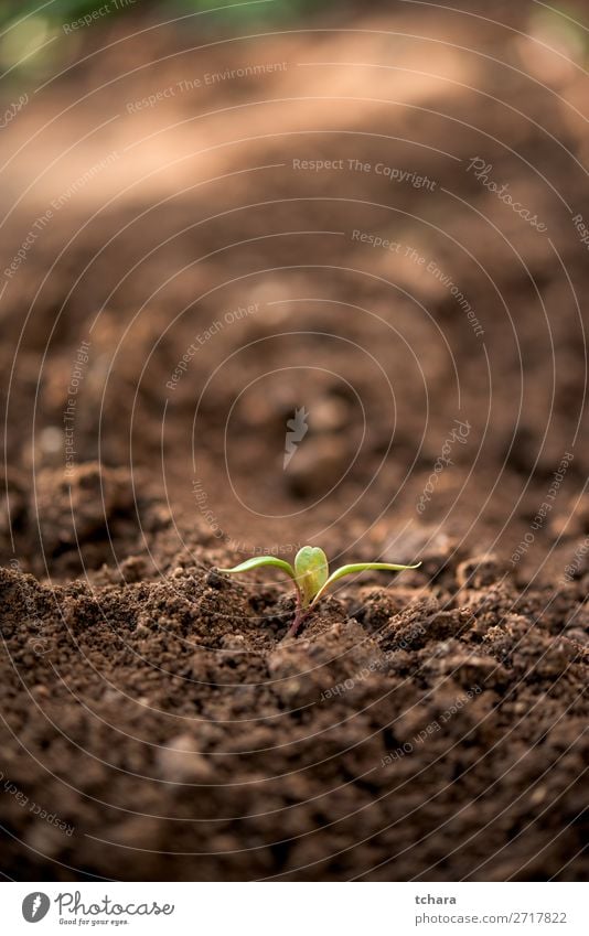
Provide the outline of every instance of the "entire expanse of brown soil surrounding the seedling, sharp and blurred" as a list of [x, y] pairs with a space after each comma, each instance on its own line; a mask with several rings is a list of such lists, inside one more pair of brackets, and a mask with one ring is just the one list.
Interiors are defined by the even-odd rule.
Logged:
[[[6, 876], [587, 876], [589, 98], [511, 7], [196, 52], [159, 30], [11, 123], [2, 269], [117, 159], [1, 299]], [[288, 68], [126, 108], [264, 62]], [[280, 575], [214, 567], [303, 542], [422, 566], [345, 580], [287, 639]]]

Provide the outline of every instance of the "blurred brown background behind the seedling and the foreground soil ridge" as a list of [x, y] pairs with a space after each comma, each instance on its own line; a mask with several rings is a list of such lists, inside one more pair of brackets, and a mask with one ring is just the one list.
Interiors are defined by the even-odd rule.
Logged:
[[585, 6], [0, 18], [4, 557], [142, 544], [56, 523], [96, 462], [212, 549], [511, 556], [570, 453], [542, 574], [585, 524]]

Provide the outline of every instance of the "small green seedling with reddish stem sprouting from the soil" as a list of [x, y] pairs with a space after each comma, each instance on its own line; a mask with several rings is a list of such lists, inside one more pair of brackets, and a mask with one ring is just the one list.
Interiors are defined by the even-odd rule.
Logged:
[[277, 569], [281, 569], [287, 575], [290, 575], [294, 582], [297, 611], [288, 636], [293, 637], [303, 621], [323, 598], [326, 589], [333, 582], [343, 579], [344, 575], [353, 575], [355, 572], [367, 572], [372, 569], [384, 572], [400, 572], [404, 569], [417, 569], [420, 564], [420, 562], [417, 566], [397, 566], [393, 562], [354, 562], [351, 566], [341, 566], [330, 575], [328, 557], [323, 550], [319, 546], [303, 546], [294, 557], [294, 568], [290, 562], [286, 562], [283, 559], [277, 559], [276, 556], [255, 556], [253, 559], [246, 559], [245, 562], [235, 566], [233, 569], [219, 569], [218, 571], [225, 572], [227, 575], [235, 575], [238, 572], [249, 572], [251, 569], [260, 569], [263, 566], [274, 566]]

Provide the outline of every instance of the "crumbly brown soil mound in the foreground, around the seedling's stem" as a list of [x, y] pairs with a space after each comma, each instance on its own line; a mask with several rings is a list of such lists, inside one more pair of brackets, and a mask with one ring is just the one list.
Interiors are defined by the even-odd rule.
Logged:
[[4, 777], [73, 829], [3, 796], [7, 867], [581, 880], [580, 590], [555, 639], [550, 601], [508, 584], [460, 591], [453, 569], [433, 596], [374, 578], [286, 641], [290, 602], [268, 582], [185, 566], [49, 589], [2, 571]]

